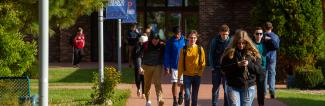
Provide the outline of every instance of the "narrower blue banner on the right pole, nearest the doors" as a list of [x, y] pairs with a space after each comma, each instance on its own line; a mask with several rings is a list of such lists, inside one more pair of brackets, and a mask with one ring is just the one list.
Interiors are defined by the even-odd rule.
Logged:
[[127, 0], [127, 15], [122, 19], [122, 23], [137, 23], [136, 0]]

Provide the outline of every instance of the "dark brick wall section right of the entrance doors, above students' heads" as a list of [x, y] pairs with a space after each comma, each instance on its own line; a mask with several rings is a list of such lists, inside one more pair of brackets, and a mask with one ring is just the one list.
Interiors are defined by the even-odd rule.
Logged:
[[250, 11], [254, 0], [199, 0], [199, 39], [205, 47], [212, 37], [218, 33], [218, 26], [228, 24], [230, 33], [243, 28], [248, 32], [250, 26]]

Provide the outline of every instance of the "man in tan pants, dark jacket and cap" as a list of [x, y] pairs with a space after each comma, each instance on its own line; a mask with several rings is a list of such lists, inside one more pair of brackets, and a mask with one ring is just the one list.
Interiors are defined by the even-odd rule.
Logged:
[[144, 45], [142, 68], [144, 70], [144, 94], [146, 98], [146, 106], [151, 106], [149, 97], [151, 82], [153, 82], [155, 85], [158, 106], [162, 106], [164, 104], [160, 82], [163, 53], [164, 44], [160, 43], [159, 37], [157, 36], [152, 36], [149, 42]]

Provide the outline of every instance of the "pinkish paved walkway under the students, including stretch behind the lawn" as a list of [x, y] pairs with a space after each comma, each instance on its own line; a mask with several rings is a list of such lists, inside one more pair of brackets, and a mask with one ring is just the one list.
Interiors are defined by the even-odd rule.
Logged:
[[[105, 63], [105, 65], [113, 65], [111, 63]], [[80, 68], [96, 68], [98, 66], [97, 63], [81, 63]], [[69, 63], [50, 63], [50, 68], [69, 68], [72, 67]], [[172, 92], [171, 92], [171, 84], [168, 80], [168, 77], [162, 77], [162, 89], [163, 89], [163, 98], [165, 100], [164, 106], [172, 106]], [[284, 86], [278, 86], [280, 88], [283, 88]], [[89, 88], [89, 86], [85, 86], [84, 88]], [[131, 96], [129, 97], [126, 106], [145, 106], [145, 100], [137, 97], [136, 95], [136, 86], [135, 84], [119, 84], [119, 89], [130, 89], [131, 90]], [[222, 87], [221, 87], [222, 88]], [[199, 106], [211, 106], [211, 72], [205, 71], [203, 73], [203, 77], [201, 79], [201, 86], [199, 90], [199, 100], [198, 105]], [[152, 106], [157, 106], [156, 101], [156, 93], [154, 91], [154, 86], [151, 87], [151, 102]], [[223, 106], [223, 90], [221, 89], [220, 97], [219, 97], [219, 106]], [[257, 100], [256, 97], [254, 99], [253, 106], [257, 106]], [[265, 106], [286, 106], [283, 102], [280, 102], [276, 99], [269, 99], [269, 95], [266, 96]]]

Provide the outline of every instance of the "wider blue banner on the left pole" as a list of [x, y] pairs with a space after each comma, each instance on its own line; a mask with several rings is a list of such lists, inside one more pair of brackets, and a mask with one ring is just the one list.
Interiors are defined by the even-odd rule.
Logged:
[[110, 0], [106, 7], [106, 19], [124, 19], [127, 15], [126, 0]]

